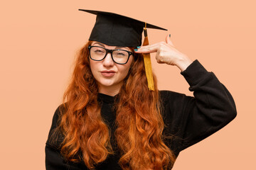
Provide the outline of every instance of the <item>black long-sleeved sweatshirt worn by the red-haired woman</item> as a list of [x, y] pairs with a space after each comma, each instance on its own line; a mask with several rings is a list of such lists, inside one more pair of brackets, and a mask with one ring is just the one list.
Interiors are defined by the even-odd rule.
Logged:
[[[165, 139], [164, 142], [177, 157], [181, 150], [220, 130], [230, 123], [237, 114], [235, 102], [229, 91], [218, 81], [215, 74], [207, 72], [198, 60], [195, 60], [181, 74], [188, 81], [189, 90], [193, 91], [194, 97], [174, 91], [159, 91], [163, 107], [161, 114], [166, 125], [164, 134], [176, 136], [172, 140]], [[115, 113], [112, 107], [115, 97], [105, 94], [98, 95], [98, 100], [102, 103], [102, 117], [110, 127], [114, 125]], [[58, 115], [57, 109], [53, 115], [49, 136], [57, 126]], [[111, 142], [112, 146], [117, 149], [114, 138], [111, 138]], [[119, 157], [119, 154], [110, 155], [96, 169], [121, 169], [118, 165]], [[46, 169], [78, 170], [87, 169], [87, 167], [84, 162], [65, 162], [57, 147], [48, 139], [46, 142]]]

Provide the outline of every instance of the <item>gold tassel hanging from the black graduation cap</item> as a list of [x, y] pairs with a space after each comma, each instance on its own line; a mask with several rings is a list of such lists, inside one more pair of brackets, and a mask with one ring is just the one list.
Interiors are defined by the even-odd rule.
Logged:
[[[144, 28], [144, 42], [142, 45], [149, 45], [149, 39], [146, 33], [146, 23]], [[150, 53], [144, 53], [144, 65], [145, 65], [145, 72], [146, 72], [146, 79], [148, 81], [148, 87], [150, 91], [154, 91], [154, 79], [151, 67], [151, 60], [150, 60]]]

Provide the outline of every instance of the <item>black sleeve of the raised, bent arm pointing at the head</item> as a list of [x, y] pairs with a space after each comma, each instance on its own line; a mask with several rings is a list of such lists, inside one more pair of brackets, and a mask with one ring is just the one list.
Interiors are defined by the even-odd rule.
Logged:
[[194, 97], [160, 91], [167, 126], [165, 132], [181, 139], [172, 143], [176, 153], [220, 130], [237, 114], [229, 91], [198, 60], [181, 74], [188, 81]]

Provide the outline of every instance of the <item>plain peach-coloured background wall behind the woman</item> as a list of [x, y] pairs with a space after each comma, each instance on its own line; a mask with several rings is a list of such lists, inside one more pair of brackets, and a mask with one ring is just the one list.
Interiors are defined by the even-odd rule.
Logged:
[[[75, 52], [95, 23], [95, 16], [78, 8], [112, 11], [167, 28], [149, 30], [151, 44], [171, 33], [178, 50], [198, 59], [233, 94], [238, 117], [181, 152], [175, 170], [256, 169], [253, 0], [1, 1], [0, 169], [45, 169], [53, 113]], [[178, 68], [152, 62], [160, 89], [191, 95]]]

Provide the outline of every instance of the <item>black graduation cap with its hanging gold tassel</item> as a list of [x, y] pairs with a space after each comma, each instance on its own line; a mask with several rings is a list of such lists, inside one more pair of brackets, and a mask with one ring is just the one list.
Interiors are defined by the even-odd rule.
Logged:
[[[95, 26], [92, 29], [89, 40], [102, 42], [110, 46], [137, 47], [142, 45], [142, 32], [144, 30], [144, 43], [149, 45], [146, 28], [166, 30], [164, 28], [138, 21], [134, 18], [121, 16], [117, 13], [105, 11], [92, 11], [79, 9], [97, 15]], [[149, 90], [154, 90], [154, 81], [151, 71], [151, 60], [149, 54], [144, 54], [144, 64]]]

